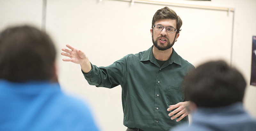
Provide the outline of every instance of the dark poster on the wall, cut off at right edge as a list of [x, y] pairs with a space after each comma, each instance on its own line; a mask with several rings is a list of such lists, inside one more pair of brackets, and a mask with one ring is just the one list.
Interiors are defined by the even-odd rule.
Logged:
[[256, 86], [256, 36], [252, 37], [252, 71], [250, 85]]

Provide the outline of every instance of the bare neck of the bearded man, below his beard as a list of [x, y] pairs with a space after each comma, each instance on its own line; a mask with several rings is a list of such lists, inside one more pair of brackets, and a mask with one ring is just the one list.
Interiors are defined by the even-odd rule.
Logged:
[[158, 60], [168, 60], [172, 55], [172, 47], [165, 51], [158, 50], [155, 46], [153, 47], [153, 55]]

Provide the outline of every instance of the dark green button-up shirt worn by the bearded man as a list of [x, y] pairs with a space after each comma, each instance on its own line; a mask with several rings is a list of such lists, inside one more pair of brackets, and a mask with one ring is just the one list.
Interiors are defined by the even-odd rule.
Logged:
[[84, 73], [90, 85], [113, 88], [121, 85], [124, 126], [145, 131], [167, 131], [186, 120], [171, 120], [169, 105], [184, 101], [183, 77], [192, 68], [173, 49], [172, 55], [160, 67], [152, 48], [129, 54], [112, 65], [97, 67]]

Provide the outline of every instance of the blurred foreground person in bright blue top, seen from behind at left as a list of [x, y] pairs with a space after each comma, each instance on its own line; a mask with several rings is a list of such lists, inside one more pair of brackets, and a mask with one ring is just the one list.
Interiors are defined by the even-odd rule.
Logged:
[[98, 131], [83, 100], [64, 94], [51, 38], [35, 27], [0, 33], [1, 131]]

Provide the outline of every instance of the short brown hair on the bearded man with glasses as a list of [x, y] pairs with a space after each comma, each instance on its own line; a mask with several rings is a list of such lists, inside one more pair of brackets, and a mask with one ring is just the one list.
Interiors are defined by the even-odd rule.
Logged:
[[151, 28], [153, 28], [156, 21], [159, 19], [175, 19], [177, 22], [177, 24], [176, 24], [177, 33], [180, 33], [180, 31], [181, 31], [180, 27], [182, 25], [182, 20], [180, 19], [180, 17], [176, 14], [176, 12], [174, 10], [170, 9], [167, 6], [165, 6], [162, 9], [157, 10], [155, 15], [153, 16]]

